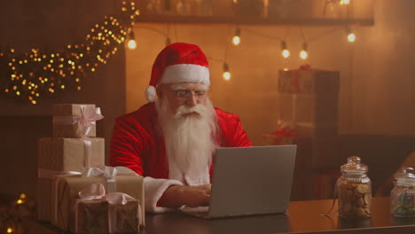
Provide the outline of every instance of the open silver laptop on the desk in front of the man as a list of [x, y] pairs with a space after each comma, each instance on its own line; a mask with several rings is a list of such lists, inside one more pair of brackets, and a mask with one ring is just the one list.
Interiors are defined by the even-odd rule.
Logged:
[[200, 218], [286, 213], [296, 145], [218, 148], [209, 207], [184, 207]]

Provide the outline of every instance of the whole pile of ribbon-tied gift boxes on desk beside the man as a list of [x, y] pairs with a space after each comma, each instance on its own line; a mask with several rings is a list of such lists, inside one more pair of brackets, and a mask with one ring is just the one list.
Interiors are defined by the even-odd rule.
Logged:
[[[96, 121], [102, 118], [95, 105], [54, 106], [53, 137], [38, 141], [39, 220], [74, 233], [135, 233], [144, 224], [143, 177], [104, 166], [105, 139], [96, 137]], [[98, 185], [104, 190], [100, 197], [80, 198], [80, 191]], [[129, 199], [106, 199], [114, 194]], [[131, 214], [136, 218], [127, 219]]]

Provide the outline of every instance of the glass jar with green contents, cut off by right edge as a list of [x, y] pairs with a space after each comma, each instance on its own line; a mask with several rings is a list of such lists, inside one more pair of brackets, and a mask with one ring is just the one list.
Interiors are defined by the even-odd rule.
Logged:
[[396, 217], [415, 217], [415, 171], [402, 168], [395, 174], [395, 187], [390, 191], [390, 213]]

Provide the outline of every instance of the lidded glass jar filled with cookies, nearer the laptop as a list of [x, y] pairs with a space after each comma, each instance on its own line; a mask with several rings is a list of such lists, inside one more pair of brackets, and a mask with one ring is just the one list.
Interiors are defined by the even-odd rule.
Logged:
[[360, 158], [348, 158], [341, 166], [341, 177], [337, 180], [339, 217], [365, 219], [371, 217], [372, 182], [367, 176], [368, 168]]

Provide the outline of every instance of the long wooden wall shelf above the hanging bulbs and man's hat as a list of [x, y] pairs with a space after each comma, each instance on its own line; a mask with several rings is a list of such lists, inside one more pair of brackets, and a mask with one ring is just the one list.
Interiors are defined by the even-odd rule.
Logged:
[[236, 18], [220, 16], [173, 16], [143, 14], [138, 17], [138, 23], [179, 23], [179, 24], [237, 24], [237, 25], [300, 25], [300, 26], [344, 26], [359, 25], [373, 26], [373, 19], [317, 19], [317, 18]]

